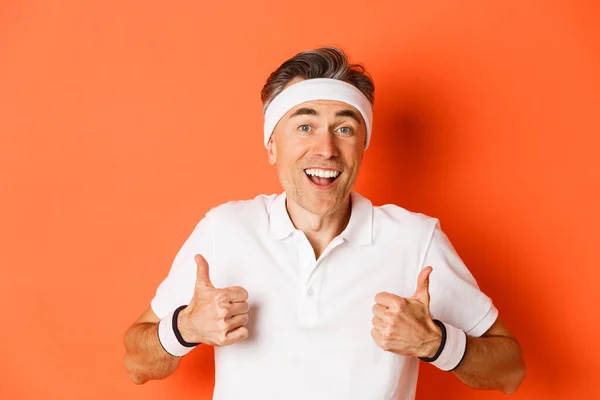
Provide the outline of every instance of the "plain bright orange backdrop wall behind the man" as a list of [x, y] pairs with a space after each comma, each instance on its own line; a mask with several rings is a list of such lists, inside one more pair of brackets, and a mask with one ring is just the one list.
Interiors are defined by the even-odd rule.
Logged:
[[[598, 395], [598, 3], [281, 3], [0, 3], [0, 398], [210, 398], [211, 348], [136, 386], [123, 334], [205, 211], [281, 190], [259, 92], [321, 45], [376, 84], [357, 190], [440, 218], [523, 346], [514, 398]], [[503, 395], [422, 366], [434, 396]]]

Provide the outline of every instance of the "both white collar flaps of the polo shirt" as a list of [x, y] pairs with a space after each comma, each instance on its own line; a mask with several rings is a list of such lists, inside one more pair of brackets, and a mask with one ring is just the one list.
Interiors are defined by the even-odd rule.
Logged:
[[[286, 192], [279, 194], [271, 203], [269, 212], [269, 233], [279, 240], [296, 230], [287, 212], [285, 200]], [[358, 245], [373, 243], [373, 204], [355, 191], [350, 192], [350, 201], [350, 221], [340, 236]]]

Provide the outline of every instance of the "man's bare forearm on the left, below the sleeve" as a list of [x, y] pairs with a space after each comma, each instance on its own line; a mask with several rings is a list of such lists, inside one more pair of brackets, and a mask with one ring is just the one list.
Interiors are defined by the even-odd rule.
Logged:
[[145, 383], [171, 375], [181, 357], [167, 353], [158, 340], [158, 323], [142, 322], [125, 335], [125, 369], [133, 382]]

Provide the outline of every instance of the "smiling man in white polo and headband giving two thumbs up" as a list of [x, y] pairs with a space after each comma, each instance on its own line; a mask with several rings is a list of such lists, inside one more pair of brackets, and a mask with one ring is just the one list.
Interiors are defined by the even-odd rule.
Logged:
[[270, 75], [264, 144], [284, 192], [198, 223], [125, 335], [135, 383], [212, 345], [216, 400], [413, 399], [419, 359], [516, 391], [520, 346], [439, 221], [352, 190], [373, 92], [331, 47]]

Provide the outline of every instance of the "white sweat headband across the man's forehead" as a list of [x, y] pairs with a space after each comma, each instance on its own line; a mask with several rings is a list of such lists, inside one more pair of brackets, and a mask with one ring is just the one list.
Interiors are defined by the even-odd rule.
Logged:
[[373, 109], [371, 103], [356, 86], [339, 79], [306, 79], [285, 88], [269, 104], [265, 111], [265, 147], [281, 117], [298, 104], [311, 100], [337, 100], [356, 108], [365, 120], [367, 140], [365, 149], [371, 140]]

